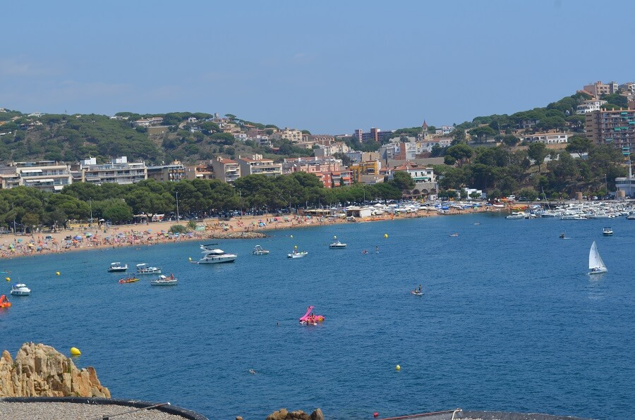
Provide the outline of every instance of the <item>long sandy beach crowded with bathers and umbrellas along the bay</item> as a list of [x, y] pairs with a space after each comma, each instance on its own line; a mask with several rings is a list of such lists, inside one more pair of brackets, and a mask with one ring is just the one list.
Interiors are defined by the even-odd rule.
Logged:
[[336, 223], [365, 223], [370, 221], [392, 221], [403, 218], [445, 216], [454, 214], [472, 214], [494, 211], [490, 207], [459, 211], [450, 209], [445, 214], [437, 211], [418, 211], [411, 214], [383, 214], [354, 222], [345, 218], [322, 218], [315, 216], [237, 216], [229, 220], [209, 218], [197, 221], [198, 229], [182, 235], [169, 233], [171, 226], [186, 225], [186, 222], [174, 221], [149, 222], [121, 226], [81, 226], [80, 228], [58, 230], [53, 233], [6, 234], [0, 236], [0, 259], [16, 257], [35, 257], [42, 254], [59, 254], [80, 250], [115, 247], [140, 247], [155, 244], [168, 244], [181, 241], [205, 241], [215, 239], [249, 239], [264, 237], [270, 230], [299, 228], [308, 226], [327, 226]]

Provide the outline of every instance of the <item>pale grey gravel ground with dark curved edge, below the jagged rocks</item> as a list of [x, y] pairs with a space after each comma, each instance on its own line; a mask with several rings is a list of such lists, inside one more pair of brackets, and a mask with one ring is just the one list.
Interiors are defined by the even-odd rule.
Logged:
[[[0, 419], [11, 420], [102, 420], [135, 409], [123, 405], [78, 404], [72, 402], [0, 402]], [[182, 416], [142, 410], [112, 417], [113, 420], [183, 420]]]

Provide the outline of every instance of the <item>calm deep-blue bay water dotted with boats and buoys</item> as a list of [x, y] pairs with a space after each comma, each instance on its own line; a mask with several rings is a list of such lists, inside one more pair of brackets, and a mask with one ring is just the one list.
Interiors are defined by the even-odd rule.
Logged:
[[[333, 235], [349, 247], [328, 249]], [[591, 278], [593, 240], [609, 272]], [[251, 255], [257, 244], [271, 254]], [[287, 259], [294, 245], [308, 257]], [[78, 347], [75, 364], [95, 366], [113, 397], [212, 419], [280, 407], [321, 407], [329, 419], [454, 407], [609, 419], [635, 409], [634, 221], [481, 214], [219, 247], [236, 263], [189, 264], [196, 242], [0, 261], [32, 289], [0, 312], [0, 347]], [[120, 285], [111, 261], [160, 266], [179, 285]], [[410, 295], [420, 283], [425, 295]], [[310, 304], [326, 321], [298, 326]]]

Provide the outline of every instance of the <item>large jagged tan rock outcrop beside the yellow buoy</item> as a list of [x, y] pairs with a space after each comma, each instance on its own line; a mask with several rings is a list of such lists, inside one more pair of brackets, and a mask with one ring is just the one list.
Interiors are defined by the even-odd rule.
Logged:
[[104, 397], [108, 388], [92, 367], [77, 369], [53, 347], [25, 342], [16, 360], [4, 350], [0, 357], [0, 397]]

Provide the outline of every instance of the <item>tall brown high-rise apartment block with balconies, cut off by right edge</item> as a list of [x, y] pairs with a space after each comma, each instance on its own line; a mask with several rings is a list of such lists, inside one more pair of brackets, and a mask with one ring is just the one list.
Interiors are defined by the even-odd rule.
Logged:
[[594, 144], [613, 144], [615, 147], [635, 146], [635, 110], [619, 109], [593, 111], [586, 114], [586, 137]]

